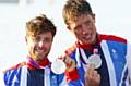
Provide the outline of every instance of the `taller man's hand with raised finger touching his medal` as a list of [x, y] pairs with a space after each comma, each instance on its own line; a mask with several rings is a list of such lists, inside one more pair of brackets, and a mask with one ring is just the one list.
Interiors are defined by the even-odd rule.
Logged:
[[88, 64], [87, 71], [85, 72], [85, 86], [99, 86], [100, 75], [95, 70], [95, 66]]

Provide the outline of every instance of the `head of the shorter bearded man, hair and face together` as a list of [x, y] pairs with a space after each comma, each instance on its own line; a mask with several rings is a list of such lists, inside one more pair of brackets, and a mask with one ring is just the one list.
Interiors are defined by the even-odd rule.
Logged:
[[26, 23], [26, 42], [29, 57], [34, 60], [41, 61], [47, 58], [53, 37], [56, 26], [44, 14], [29, 20]]

